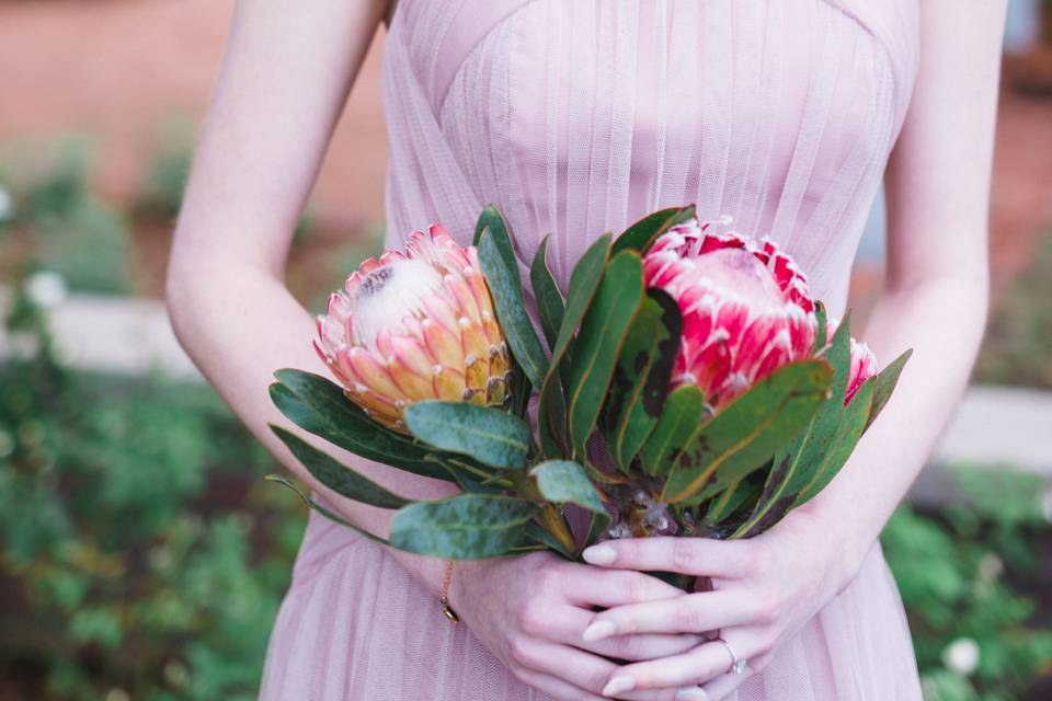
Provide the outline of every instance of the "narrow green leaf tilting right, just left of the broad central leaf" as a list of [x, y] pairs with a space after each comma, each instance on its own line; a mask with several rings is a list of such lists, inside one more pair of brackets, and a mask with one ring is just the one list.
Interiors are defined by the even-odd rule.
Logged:
[[584, 255], [570, 274], [570, 291], [567, 296], [567, 306], [556, 337], [556, 346], [551, 352], [551, 364], [548, 376], [540, 391], [538, 407], [538, 424], [541, 448], [548, 458], [564, 457], [570, 453], [567, 429], [567, 404], [563, 386], [560, 383], [568, 372], [568, 355], [570, 343], [573, 341], [578, 327], [581, 325], [595, 291], [598, 289], [603, 272], [606, 269], [610, 252], [610, 235], [599, 237], [590, 245]]

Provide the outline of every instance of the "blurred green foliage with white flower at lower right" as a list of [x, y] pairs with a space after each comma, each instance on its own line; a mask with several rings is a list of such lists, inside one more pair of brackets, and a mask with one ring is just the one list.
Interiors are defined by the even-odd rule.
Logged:
[[[1041, 553], [1047, 560], [1052, 549], [1049, 484], [1007, 469], [959, 468], [953, 478], [960, 503], [937, 515], [903, 507], [882, 536], [925, 699], [1027, 698], [1038, 678], [1052, 675], [1052, 591], [1048, 581], [1034, 586]], [[1036, 594], [1043, 586], [1043, 613], [1025, 586]]]

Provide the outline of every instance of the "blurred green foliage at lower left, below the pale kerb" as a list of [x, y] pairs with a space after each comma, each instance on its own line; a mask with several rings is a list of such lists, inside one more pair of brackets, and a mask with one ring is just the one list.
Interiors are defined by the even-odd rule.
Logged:
[[24, 295], [8, 326], [0, 690], [254, 699], [304, 526], [273, 462], [204, 386], [65, 370]]

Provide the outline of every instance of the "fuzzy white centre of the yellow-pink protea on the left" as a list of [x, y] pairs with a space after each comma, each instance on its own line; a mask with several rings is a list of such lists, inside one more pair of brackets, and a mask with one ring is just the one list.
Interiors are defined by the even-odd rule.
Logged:
[[369, 273], [351, 299], [354, 343], [376, 349], [376, 336], [384, 327], [409, 333], [402, 320], [423, 318], [423, 299], [442, 289], [442, 275], [431, 264], [404, 258]]

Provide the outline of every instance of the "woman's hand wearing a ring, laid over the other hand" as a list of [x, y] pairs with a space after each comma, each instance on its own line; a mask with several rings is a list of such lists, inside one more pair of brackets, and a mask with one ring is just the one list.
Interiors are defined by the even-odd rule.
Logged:
[[[584, 559], [593, 565], [711, 581], [708, 591], [595, 614], [585, 641], [629, 633], [702, 633], [711, 639], [684, 654], [618, 667], [604, 696], [668, 689], [676, 701], [724, 698], [763, 669], [778, 645], [854, 578], [865, 553], [854, 556], [839, 545], [827, 525], [797, 510], [748, 540], [631, 538], [588, 548]], [[732, 670], [732, 650], [746, 660], [743, 674]]]

